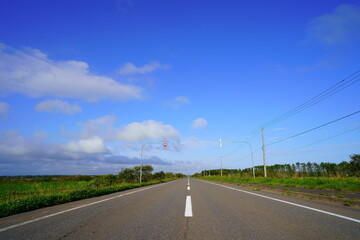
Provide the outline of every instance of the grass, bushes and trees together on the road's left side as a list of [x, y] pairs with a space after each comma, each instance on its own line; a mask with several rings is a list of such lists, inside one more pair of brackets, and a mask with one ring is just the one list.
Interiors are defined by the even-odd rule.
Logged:
[[141, 186], [183, 178], [181, 173], [152, 173], [151, 165], [122, 169], [118, 175], [16, 176], [0, 178], [0, 217], [42, 207], [101, 196]]

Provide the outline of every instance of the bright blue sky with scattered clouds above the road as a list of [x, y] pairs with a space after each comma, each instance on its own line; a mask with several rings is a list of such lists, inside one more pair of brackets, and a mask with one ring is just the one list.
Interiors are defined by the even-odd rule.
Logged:
[[[219, 168], [219, 138], [259, 149], [251, 132], [359, 70], [359, 46], [359, 1], [2, 1], [0, 175], [116, 173], [154, 141], [156, 171]], [[359, 90], [267, 126], [266, 144], [360, 110]], [[347, 161], [358, 127], [268, 146], [267, 162]], [[251, 166], [246, 145], [222, 153]]]

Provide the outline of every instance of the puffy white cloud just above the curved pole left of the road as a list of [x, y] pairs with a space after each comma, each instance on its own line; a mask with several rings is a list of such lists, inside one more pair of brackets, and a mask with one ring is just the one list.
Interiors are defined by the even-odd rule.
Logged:
[[154, 120], [130, 123], [121, 128], [117, 138], [125, 142], [136, 142], [145, 139], [178, 138], [179, 133], [171, 125]]

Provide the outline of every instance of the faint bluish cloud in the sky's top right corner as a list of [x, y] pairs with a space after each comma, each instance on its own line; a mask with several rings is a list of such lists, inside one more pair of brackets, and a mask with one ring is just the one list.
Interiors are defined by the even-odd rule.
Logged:
[[308, 23], [308, 41], [338, 44], [360, 39], [360, 7], [341, 4], [334, 12], [319, 16]]

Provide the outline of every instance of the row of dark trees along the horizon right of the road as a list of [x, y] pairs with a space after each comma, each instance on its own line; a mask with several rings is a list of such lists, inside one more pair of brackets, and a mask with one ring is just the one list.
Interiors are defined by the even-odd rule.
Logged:
[[[256, 176], [264, 176], [264, 166], [255, 166]], [[266, 167], [268, 177], [360, 177], [360, 154], [350, 155], [350, 161], [336, 163], [294, 163], [275, 164]], [[194, 176], [208, 176], [209, 170], [196, 173]], [[220, 175], [220, 169], [210, 170], [210, 175]], [[224, 175], [251, 177], [252, 168], [223, 169]]]

